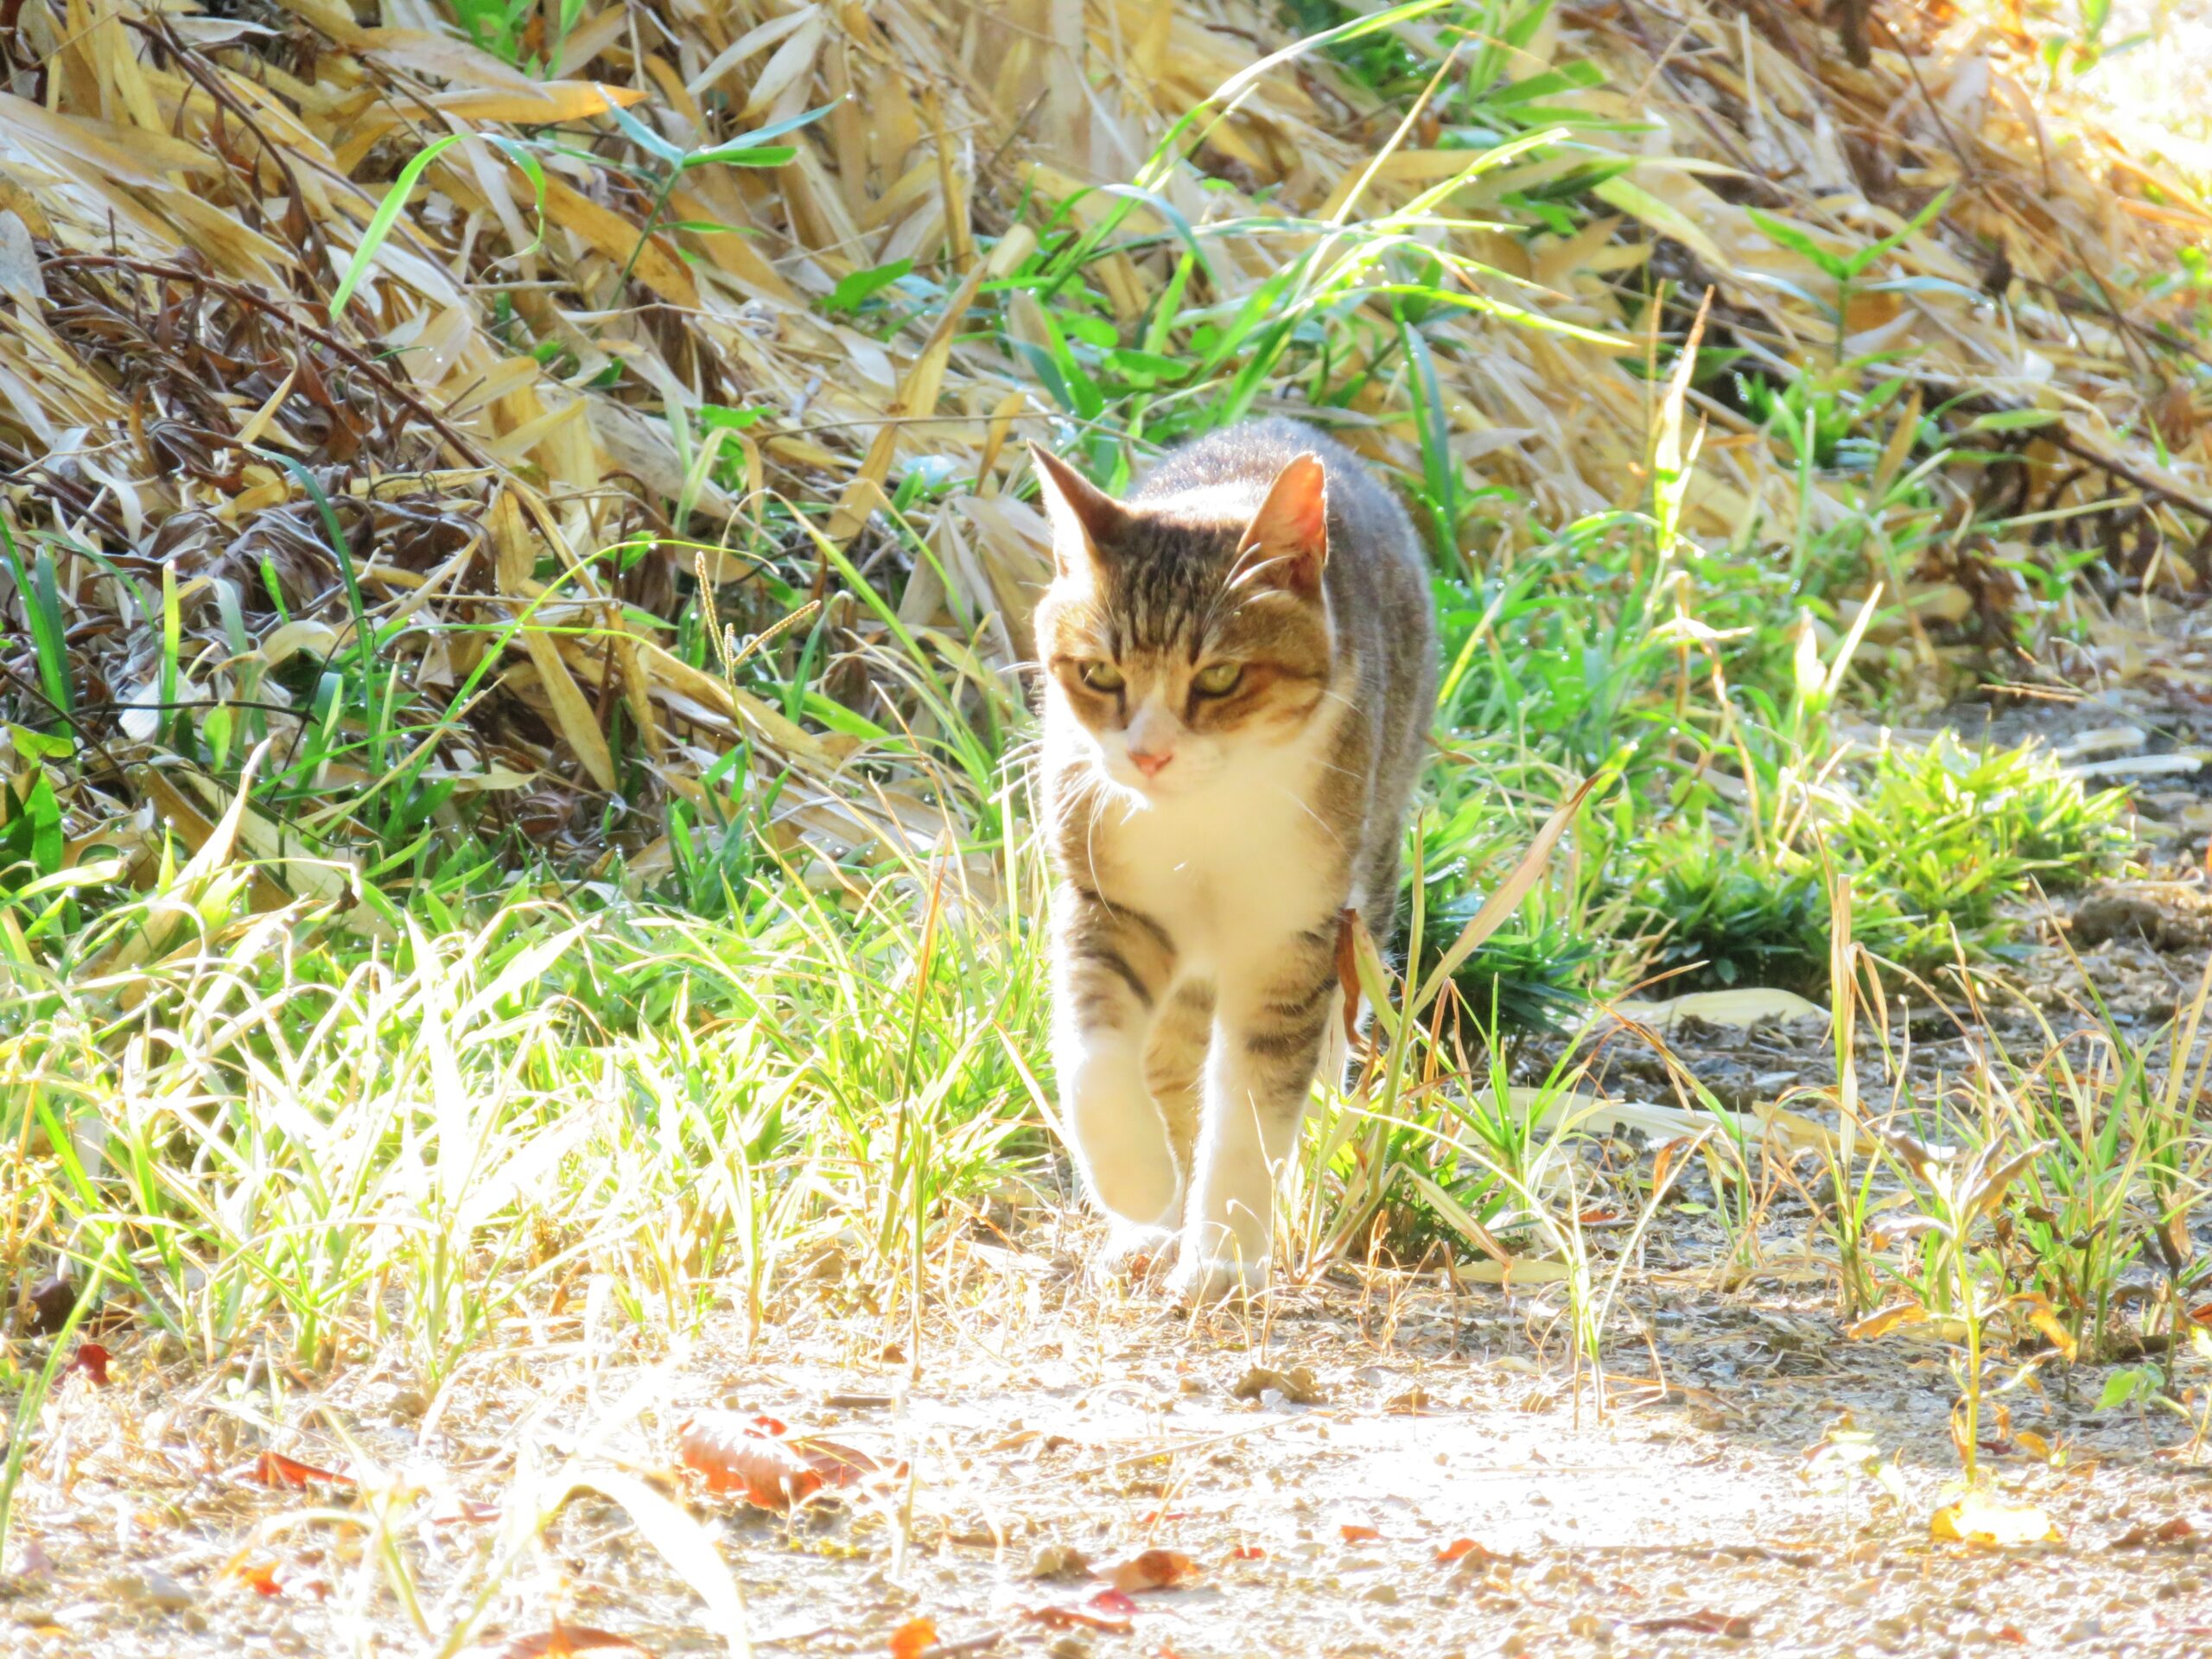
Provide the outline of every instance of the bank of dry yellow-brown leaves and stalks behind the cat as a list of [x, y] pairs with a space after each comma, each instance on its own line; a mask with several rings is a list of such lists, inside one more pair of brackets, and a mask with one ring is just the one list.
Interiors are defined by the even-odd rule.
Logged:
[[[1391, 33], [1444, 84], [1495, 7], [1407, 11]], [[232, 759], [265, 734], [272, 770], [319, 723], [354, 734], [285, 823], [243, 814], [272, 902], [345, 891], [361, 796], [403, 765], [582, 849], [624, 776], [633, 796], [637, 776], [697, 794], [752, 743], [790, 774], [805, 834], [929, 841], [918, 794], [858, 783], [852, 739], [732, 686], [714, 653], [688, 666], [659, 617], [695, 540], [741, 628], [781, 615], [743, 611], [752, 553], [814, 566], [825, 597], [927, 546], [896, 615], [832, 606], [836, 648], [865, 666], [872, 639], [911, 628], [951, 681], [1013, 670], [1044, 526], [1011, 440], [1068, 425], [1020, 349], [1040, 303], [995, 279], [1068, 197], [1126, 334], [1186, 226], [1206, 254], [1186, 303], [1230, 310], [1294, 252], [1356, 248], [1420, 206], [1416, 234], [1471, 272], [1467, 307], [1427, 330], [1449, 453], [1533, 509], [1495, 555], [1646, 495], [1644, 361], [1710, 285], [1714, 345], [1809, 374], [1898, 352], [1920, 407], [2015, 456], [2037, 509], [2081, 509], [2132, 575], [2201, 584], [2208, 449], [2161, 369], [2183, 361], [2168, 334], [2188, 296], [2161, 314], [2143, 283], [2106, 281], [2170, 270], [2212, 230], [2201, 197], [2088, 115], [2062, 126], [2031, 102], [2031, 42], [2002, 18], [1876, 7], [1860, 69], [1816, 11], [1557, 4], [1506, 73], [1597, 69], [1544, 100], [1575, 117], [1571, 142], [1471, 166], [1425, 102], [1407, 117], [1325, 55], [1285, 53], [1274, 7], [655, 0], [577, 15], [533, 77], [425, 0], [389, 0], [383, 27], [338, 0], [24, 0], [0, 93], [9, 697], [71, 706], [77, 843], [150, 845], [155, 818], [186, 847], [215, 834], [228, 792], [173, 752], [177, 706], [206, 732], [230, 703]], [[520, 46], [544, 66], [546, 15]], [[779, 139], [796, 150], [779, 168], [664, 177], [637, 137], [692, 155], [823, 106]], [[392, 181], [449, 135], [363, 261]], [[1564, 228], [1515, 221], [1513, 192], [1593, 153], [1632, 166]], [[1095, 190], [1130, 179], [1148, 186], [1135, 206]], [[889, 341], [821, 305], [900, 259], [938, 299]], [[1252, 407], [1296, 400], [1267, 380]], [[710, 427], [701, 405], [763, 414]], [[1378, 378], [1352, 438], [1418, 478], [1409, 409]], [[1801, 502], [1734, 409], [1692, 392], [1692, 411], [1710, 425], [1686, 533], [1851, 511], [1820, 487]], [[918, 456], [971, 482], [894, 540], [878, 509]], [[805, 509], [796, 531], [776, 502]], [[785, 542], [763, 549], [774, 524]], [[624, 540], [633, 555], [602, 557]], [[62, 686], [38, 615], [66, 635]], [[301, 655], [363, 670], [361, 706], [319, 706]], [[378, 686], [451, 719], [387, 726]], [[11, 774], [33, 763], [9, 743]]]

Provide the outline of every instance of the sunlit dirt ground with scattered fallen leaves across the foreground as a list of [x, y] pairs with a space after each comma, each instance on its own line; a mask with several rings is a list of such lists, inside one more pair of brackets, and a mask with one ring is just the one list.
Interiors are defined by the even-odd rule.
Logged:
[[[1955, 1467], [1942, 1358], [1843, 1343], [1803, 1274], [1730, 1296], [1699, 1272], [1646, 1279], [1597, 1420], [1588, 1389], [1577, 1413], [1555, 1294], [1340, 1274], [1265, 1323], [1190, 1323], [1071, 1265], [971, 1252], [918, 1380], [869, 1352], [878, 1318], [830, 1312], [750, 1358], [728, 1327], [648, 1356], [566, 1314], [462, 1367], [429, 1411], [374, 1369], [279, 1387], [274, 1409], [237, 1367], [73, 1378], [69, 1475], [24, 1493], [0, 1652], [436, 1652], [365, 1515], [394, 1504], [422, 1619], [445, 1632], [484, 1588], [502, 1506], [529, 1502], [518, 1453], [538, 1467], [586, 1444], [692, 1509], [763, 1655], [885, 1652], [916, 1617], [947, 1655], [2212, 1652], [2212, 1460], [2170, 1418], [2093, 1411], [2095, 1374], [2070, 1398], [2020, 1396], [1991, 1464], [2064, 1542], [1931, 1544]], [[799, 1517], [703, 1498], [672, 1471], [677, 1422], [717, 1409], [902, 1460], [909, 1480]], [[270, 1418], [303, 1460], [385, 1471], [365, 1486], [392, 1498], [226, 1473]], [[1893, 1464], [1896, 1498], [1854, 1471], [1865, 1458]], [[1188, 1555], [1194, 1582], [1099, 1606], [1082, 1562], [1146, 1548]], [[1128, 1630], [1057, 1628], [1053, 1608]], [[593, 1495], [491, 1588], [476, 1637], [542, 1652], [513, 1639], [553, 1619], [653, 1652], [721, 1646]]]

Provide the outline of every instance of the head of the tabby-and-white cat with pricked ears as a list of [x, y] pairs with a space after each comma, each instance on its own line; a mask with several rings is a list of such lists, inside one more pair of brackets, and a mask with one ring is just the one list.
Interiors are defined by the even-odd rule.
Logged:
[[1290, 460], [1256, 502], [1225, 484], [1148, 504], [1033, 456], [1055, 566], [1037, 604], [1044, 695], [1095, 745], [1093, 765], [1177, 796], [1296, 739], [1334, 666], [1321, 458]]

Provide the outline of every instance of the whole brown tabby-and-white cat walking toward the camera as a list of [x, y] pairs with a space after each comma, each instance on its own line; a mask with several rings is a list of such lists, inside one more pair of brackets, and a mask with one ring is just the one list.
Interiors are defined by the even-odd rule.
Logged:
[[1323, 1055], [1338, 929], [1387, 942], [1436, 706], [1427, 562], [1349, 449], [1254, 420], [1119, 502], [1031, 447], [1062, 1121], [1104, 1263], [1267, 1283], [1274, 1186]]

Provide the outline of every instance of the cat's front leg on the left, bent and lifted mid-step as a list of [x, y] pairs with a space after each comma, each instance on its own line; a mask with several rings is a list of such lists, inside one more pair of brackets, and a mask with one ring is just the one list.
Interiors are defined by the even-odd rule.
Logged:
[[1053, 900], [1053, 1062], [1084, 1186], [1106, 1212], [1108, 1265], [1157, 1254], [1181, 1208], [1181, 1170], [1144, 1079], [1175, 947], [1150, 918], [1062, 885]]

